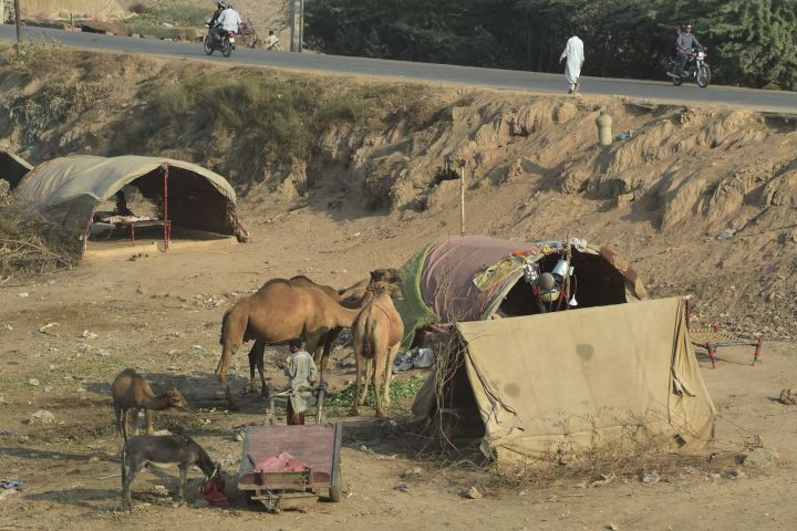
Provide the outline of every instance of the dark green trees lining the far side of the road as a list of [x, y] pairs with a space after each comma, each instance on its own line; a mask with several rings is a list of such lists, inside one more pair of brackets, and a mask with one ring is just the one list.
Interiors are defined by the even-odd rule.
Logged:
[[306, 19], [327, 53], [540, 72], [576, 33], [586, 74], [628, 77], [661, 77], [689, 21], [717, 81], [797, 87], [795, 0], [313, 0]]

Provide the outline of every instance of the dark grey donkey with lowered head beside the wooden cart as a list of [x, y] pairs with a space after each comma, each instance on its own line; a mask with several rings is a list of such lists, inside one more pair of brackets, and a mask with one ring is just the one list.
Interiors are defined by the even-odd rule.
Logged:
[[215, 465], [205, 449], [190, 437], [180, 435], [141, 435], [127, 439], [122, 449], [122, 504], [133, 508], [131, 485], [136, 473], [148, 464], [177, 465], [180, 471], [179, 498], [185, 501], [188, 467], [196, 465], [206, 478], [220, 466]]

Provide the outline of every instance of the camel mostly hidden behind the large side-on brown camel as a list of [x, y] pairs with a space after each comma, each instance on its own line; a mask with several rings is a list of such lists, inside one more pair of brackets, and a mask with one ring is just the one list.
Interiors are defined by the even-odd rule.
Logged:
[[[365, 288], [368, 288], [368, 284], [370, 282], [396, 282], [398, 280], [401, 280], [401, 273], [398, 273], [398, 271], [392, 268], [383, 268], [372, 271], [370, 278], [364, 279], [356, 284], [340, 291], [335, 290], [330, 285], [313, 282], [308, 277], [304, 277], [302, 274], [291, 277], [288, 282], [290, 282], [292, 287], [297, 288], [314, 288], [321, 290], [330, 299], [342, 304], [345, 308], [360, 309], [363, 302], [363, 296], [365, 295]], [[360, 289], [360, 285], [362, 285], [362, 289]], [[345, 293], [345, 301], [342, 300], [343, 296], [341, 295], [341, 293]], [[342, 330], [342, 327], [338, 326], [331, 330], [329, 333], [324, 334], [323, 339], [315, 347], [315, 352], [312, 353], [313, 361], [317, 365], [319, 365], [322, 375], [327, 371], [327, 365], [329, 363], [329, 354], [332, 351], [332, 345], [334, 344]], [[257, 393], [257, 387], [255, 384], [255, 368], [257, 368], [260, 375], [260, 393], [262, 395], [268, 395], [268, 387], [266, 386], [266, 375], [263, 373], [265, 352], [266, 343], [263, 343], [262, 341], [255, 341], [255, 344], [249, 351], [249, 391], [251, 393]]]

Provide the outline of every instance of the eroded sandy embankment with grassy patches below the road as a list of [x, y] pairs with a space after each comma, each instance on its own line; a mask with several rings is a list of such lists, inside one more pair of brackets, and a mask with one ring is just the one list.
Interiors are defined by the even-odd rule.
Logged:
[[[790, 116], [59, 50], [4, 64], [0, 105], [0, 147], [33, 163], [188, 159], [227, 176], [251, 217], [364, 205], [407, 249], [452, 230], [445, 160], [464, 160], [469, 231], [584, 236], [629, 256], [654, 295], [694, 293], [703, 324], [797, 330]], [[608, 148], [600, 112], [623, 134]]]

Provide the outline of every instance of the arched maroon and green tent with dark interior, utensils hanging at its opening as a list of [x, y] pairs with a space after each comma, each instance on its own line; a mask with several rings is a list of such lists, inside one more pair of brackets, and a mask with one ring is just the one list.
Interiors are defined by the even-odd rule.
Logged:
[[[648, 298], [629, 261], [604, 247], [570, 240], [573, 294], [578, 308], [620, 304]], [[453, 324], [539, 313], [524, 269], [551, 271], [568, 242], [510, 241], [457, 236], [427, 244], [402, 268], [404, 299], [395, 301], [404, 321], [402, 346], [418, 331]]]

